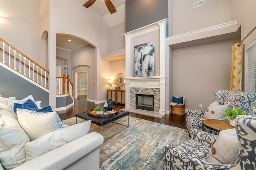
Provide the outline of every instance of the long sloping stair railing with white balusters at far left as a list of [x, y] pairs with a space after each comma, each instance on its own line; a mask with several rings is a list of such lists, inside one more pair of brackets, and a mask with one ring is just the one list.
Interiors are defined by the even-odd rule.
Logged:
[[2, 51], [2, 56], [0, 55], [0, 61], [2, 63], [48, 89], [48, 70], [44, 69], [44, 67], [40, 66], [28, 56], [24, 55], [2, 38], [0, 38], [0, 51]]

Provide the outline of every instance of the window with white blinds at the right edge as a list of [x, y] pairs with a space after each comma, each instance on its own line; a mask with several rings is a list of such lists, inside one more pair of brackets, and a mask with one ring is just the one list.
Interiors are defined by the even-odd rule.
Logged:
[[256, 92], [256, 42], [246, 50], [246, 85], [245, 90]]

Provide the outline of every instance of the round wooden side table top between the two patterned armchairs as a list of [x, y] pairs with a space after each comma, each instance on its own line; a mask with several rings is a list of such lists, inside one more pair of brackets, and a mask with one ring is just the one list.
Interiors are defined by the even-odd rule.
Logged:
[[202, 122], [204, 126], [217, 131], [235, 128], [229, 124], [229, 121], [224, 120], [204, 119]]

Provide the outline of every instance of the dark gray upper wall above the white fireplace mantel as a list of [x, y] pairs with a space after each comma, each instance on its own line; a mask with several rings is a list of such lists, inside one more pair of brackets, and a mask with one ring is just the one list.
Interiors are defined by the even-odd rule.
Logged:
[[[165, 18], [168, 19], [168, 0], [126, 0], [125, 31], [130, 32]], [[166, 26], [168, 30], [168, 24]], [[168, 37], [168, 31], [166, 31]]]

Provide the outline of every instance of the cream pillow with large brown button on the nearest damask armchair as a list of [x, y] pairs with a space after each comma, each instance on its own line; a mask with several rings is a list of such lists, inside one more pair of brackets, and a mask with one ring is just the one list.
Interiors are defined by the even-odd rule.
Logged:
[[216, 142], [209, 150], [207, 161], [215, 164], [230, 164], [239, 156], [239, 143], [236, 129], [220, 131]]

